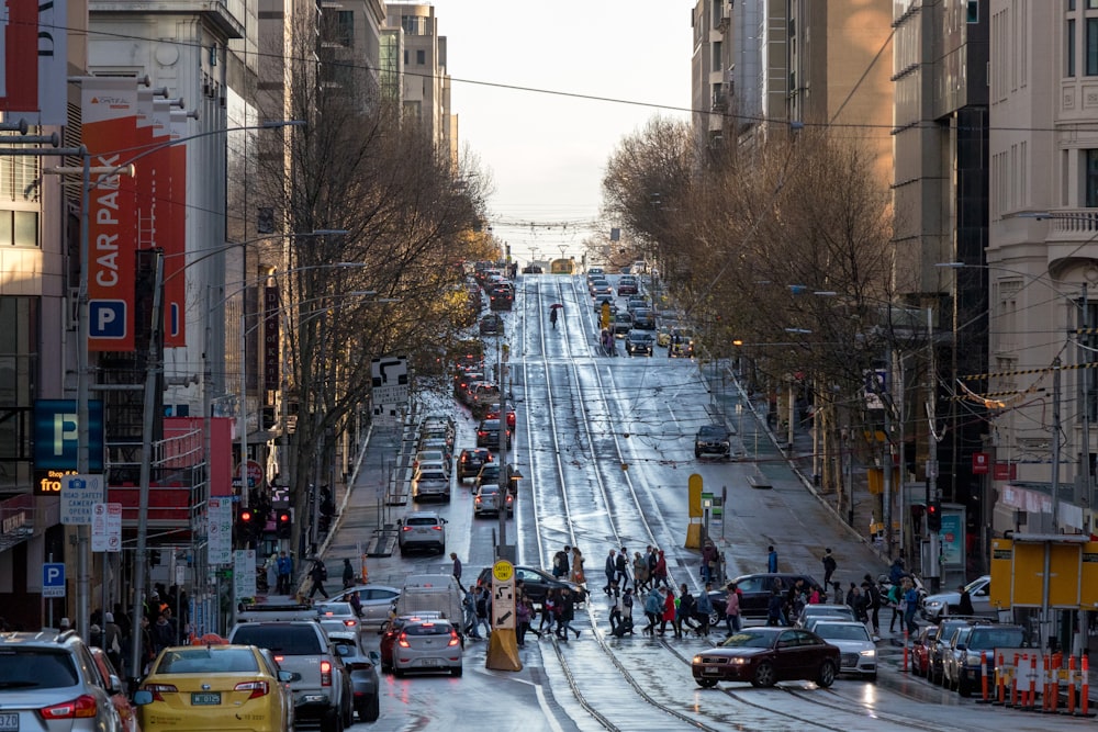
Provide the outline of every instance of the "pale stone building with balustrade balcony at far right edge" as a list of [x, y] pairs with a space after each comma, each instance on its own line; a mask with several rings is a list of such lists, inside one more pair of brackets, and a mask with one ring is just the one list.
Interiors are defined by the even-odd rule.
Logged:
[[981, 4], [991, 47], [991, 362], [989, 376], [965, 383], [995, 403], [995, 529], [1024, 519], [1024, 531], [1095, 533], [1098, 374], [1086, 364], [1098, 361], [1098, 7]]

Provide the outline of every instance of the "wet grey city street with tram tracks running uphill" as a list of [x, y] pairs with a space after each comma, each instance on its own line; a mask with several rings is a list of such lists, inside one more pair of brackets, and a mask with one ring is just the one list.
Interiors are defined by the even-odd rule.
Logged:
[[[556, 329], [548, 318], [552, 303], [563, 304]], [[691, 676], [691, 658], [719, 641], [722, 632], [683, 640], [670, 633], [642, 635], [641, 603], [634, 609], [637, 634], [610, 637], [608, 603], [601, 589], [608, 550], [625, 547], [631, 555], [657, 545], [666, 553], [672, 582], [685, 583], [694, 594], [701, 590], [699, 553], [684, 548], [693, 473], [702, 476], [705, 491], [719, 496], [727, 488], [724, 520], [710, 520], [709, 534], [724, 553], [729, 577], [764, 572], [770, 544], [778, 552], [781, 571], [820, 581], [820, 558], [831, 548], [839, 567], [834, 579], [843, 586], [861, 583], [866, 573], [876, 577], [887, 563], [837, 522], [781, 459], [766, 458], [760, 464], [752, 458], [759, 454], [750, 444], [759, 428], [750, 413], [727, 419], [731, 429], [744, 432], [733, 440], [746, 459], [695, 459], [698, 427], [721, 415], [737, 415], [737, 390], [720, 394], [724, 403], [715, 410], [695, 361], [669, 359], [665, 348], [656, 348], [652, 357], [628, 357], [620, 340], [616, 357], [605, 354], [582, 277], [519, 278], [515, 309], [504, 313], [504, 320], [509, 345], [506, 391], [517, 410], [507, 461], [523, 475], [507, 540], [517, 543], [518, 564], [545, 568], [565, 544], [582, 550], [591, 599], [576, 611], [580, 637], [567, 643], [529, 638], [519, 652], [524, 668], [517, 673], [485, 668], [486, 643], [469, 641], [460, 678], [383, 675], [381, 719], [356, 729], [1052, 730], [1094, 724], [979, 705], [910, 677], [901, 669], [899, 643], [893, 642], [899, 639], [888, 632], [887, 609], [881, 613], [877, 682], [840, 677], [830, 689], [805, 682], [770, 689], [721, 683], [702, 689]], [[486, 341], [486, 360], [497, 359], [496, 339]], [[475, 421], [463, 407], [453, 410], [457, 453], [473, 447]], [[373, 431], [327, 543], [329, 567], [354, 558], [379, 522], [392, 523], [415, 507], [410, 502], [379, 508], [400, 442], [399, 430]], [[760, 471], [770, 489], [748, 483]], [[445, 555], [371, 558], [370, 582], [400, 587], [408, 574], [448, 573], [451, 551], [464, 563], [463, 584], [475, 582], [494, 560], [498, 522], [494, 517], [473, 518], [469, 486], [456, 483], [451, 503], [429, 505], [448, 520]], [[337, 584], [329, 582], [328, 590]], [[370, 639], [376, 646], [372, 634]]]

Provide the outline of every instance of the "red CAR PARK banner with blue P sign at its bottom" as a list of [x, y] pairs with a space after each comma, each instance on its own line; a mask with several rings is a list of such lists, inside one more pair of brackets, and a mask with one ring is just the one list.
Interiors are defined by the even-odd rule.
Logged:
[[[137, 80], [81, 80], [83, 143], [92, 167], [120, 168], [134, 157]], [[130, 176], [93, 176], [88, 207], [88, 348], [134, 350], [136, 200]]]

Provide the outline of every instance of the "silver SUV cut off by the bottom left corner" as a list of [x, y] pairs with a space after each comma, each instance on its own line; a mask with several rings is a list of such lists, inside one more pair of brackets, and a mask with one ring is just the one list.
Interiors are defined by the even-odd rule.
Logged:
[[117, 692], [75, 631], [0, 634], [0, 730], [122, 732]]

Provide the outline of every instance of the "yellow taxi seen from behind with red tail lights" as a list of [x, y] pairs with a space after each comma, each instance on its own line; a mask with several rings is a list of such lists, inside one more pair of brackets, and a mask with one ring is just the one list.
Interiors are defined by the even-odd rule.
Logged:
[[290, 682], [269, 651], [254, 645], [165, 649], [134, 702], [145, 732], [293, 729]]

